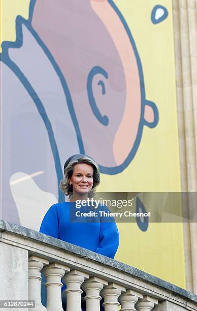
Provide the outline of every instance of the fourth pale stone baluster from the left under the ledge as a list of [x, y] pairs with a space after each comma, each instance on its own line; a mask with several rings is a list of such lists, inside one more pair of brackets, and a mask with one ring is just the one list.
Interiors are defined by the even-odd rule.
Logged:
[[108, 285], [105, 279], [97, 276], [92, 276], [87, 279], [83, 285], [82, 289], [85, 291], [85, 301], [86, 301], [86, 311], [100, 311], [100, 291], [103, 289], [104, 285]]

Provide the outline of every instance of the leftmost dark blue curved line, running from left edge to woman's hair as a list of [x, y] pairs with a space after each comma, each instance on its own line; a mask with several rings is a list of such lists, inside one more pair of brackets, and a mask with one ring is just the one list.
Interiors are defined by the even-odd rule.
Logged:
[[63, 175], [62, 175], [61, 163], [60, 163], [60, 159], [59, 159], [59, 153], [58, 153], [58, 150], [57, 150], [57, 145], [56, 145], [56, 142], [55, 142], [55, 137], [54, 137], [54, 134], [53, 134], [51, 122], [50, 122], [50, 120], [49, 120], [49, 118], [48, 118], [48, 116], [46, 114], [45, 108], [44, 108], [41, 100], [39, 99], [37, 93], [35, 92], [34, 88], [32, 88], [32, 86], [30, 85], [30, 83], [28, 82], [28, 80], [26, 79], [24, 74], [21, 72], [21, 70], [18, 68], [18, 66], [11, 59], [8, 59], [6, 56], [8, 56], [8, 55], [6, 55], [6, 53], [5, 54], [3, 53], [2, 57], [1, 57], [1, 60], [3, 61], [3, 63], [5, 65], [7, 65], [15, 73], [17, 78], [23, 84], [23, 86], [27, 90], [29, 96], [34, 101], [34, 103], [36, 104], [38, 112], [39, 112], [39, 114], [41, 115], [41, 117], [42, 117], [42, 119], [44, 121], [46, 130], [47, 130], [47, 134], [48, 134], [48, 137], [49, 137], [49, 142], [50, 142], [51, 149], [52, 149], [52, 154], [53, 154], [53, 159], [54, 159], [55, 169], [56, 169], [56, 174], [57, 174], [57, 180], [58, 180], [58, 201], [62, 202], [64, 200], [64, 195], [63, 195], [63, 193], [59, 189], [59, 183], [60, 183], [60, 180], [63, 178]]

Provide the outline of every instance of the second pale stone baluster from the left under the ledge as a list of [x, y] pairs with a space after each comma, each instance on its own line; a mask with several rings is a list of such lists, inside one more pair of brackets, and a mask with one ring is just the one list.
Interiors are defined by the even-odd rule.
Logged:
[[70, 268], [59, 263], [52, 263], [43, 268], [42, 273], [46, 277], [47, 311], [63, 311], [61, 303], [61, 277]]

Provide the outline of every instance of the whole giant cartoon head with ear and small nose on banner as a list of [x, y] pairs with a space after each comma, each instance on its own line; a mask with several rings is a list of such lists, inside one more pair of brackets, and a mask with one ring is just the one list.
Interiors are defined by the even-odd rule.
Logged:
[[121, 172], [137, 152], [143, 126], [158, 122], [155, 104], [145, 99], [140, 57], [121, 13], [111, 0], [58, 0], [55, 6], [37, 0], [32, 27], [67, 82], [85, 153], [102, 172]]

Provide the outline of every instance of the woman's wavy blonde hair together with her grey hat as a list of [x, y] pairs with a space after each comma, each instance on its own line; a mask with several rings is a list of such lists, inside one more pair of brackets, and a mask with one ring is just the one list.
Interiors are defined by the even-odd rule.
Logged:
[[73, 194], [73, 185], [70, 184], [69, 179], [73, 175], [74, 166], [82, 163], [89, 164], [93, 168], [93, 186], [91, 191], [88, 193], [88, 198], [92, 198], [94, 196], [96, 187], [100, 184], [100, 168], [93, 159], [84, 155], [79, 159], [71, 160], [64, 169], [64, 179], [60, 181], [60, 189], [66, 196], [71, 197]]

